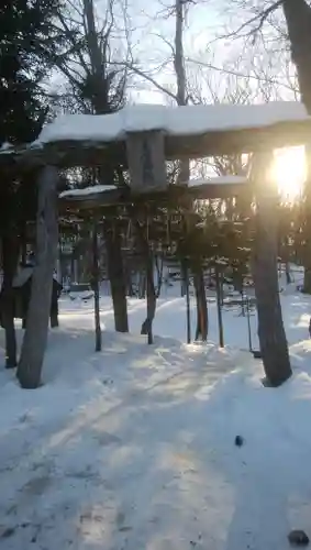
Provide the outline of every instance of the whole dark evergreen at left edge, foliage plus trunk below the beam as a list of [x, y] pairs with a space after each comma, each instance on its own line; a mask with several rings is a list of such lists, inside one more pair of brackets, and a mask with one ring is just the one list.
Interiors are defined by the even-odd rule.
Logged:
[[[3, 0], [0, 7], [0, 147], [37, 138], [47, 113], [42, 79], [60, 41], [53, 18], [59, 0]], [[7, 366], [16, 364], [12, 279], [19, 260], [19, 237], [25, 210], [35, 201], [35, 185], [23, 194], [29, 174], [2, 174], [0, 218], [3, 252], [1, 309], [7, 333]], [[29, 195], [21, 204], [21, 198]], [[24, 213], [23, 213], [24, 210]]]

